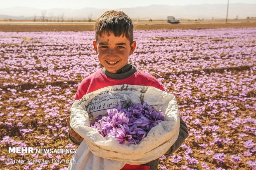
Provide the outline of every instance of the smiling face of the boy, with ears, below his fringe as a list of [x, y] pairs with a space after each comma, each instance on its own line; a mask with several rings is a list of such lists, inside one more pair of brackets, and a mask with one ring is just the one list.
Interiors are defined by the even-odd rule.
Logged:
[[116, 73], [127, 64], [129, 55], [133, 54], [136, 48], [136, 42], [133, 41], [130, 45], [126, 36], [115, 37], [111, 32], [109, 35], [104, 32], [101, 37], [98, 36], [97, 42], [93, 41], [93, 47], [106, 70]]

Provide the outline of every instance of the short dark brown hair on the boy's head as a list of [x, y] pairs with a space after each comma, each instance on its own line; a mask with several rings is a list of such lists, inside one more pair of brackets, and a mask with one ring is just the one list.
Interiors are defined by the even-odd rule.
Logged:
[[133, 27], [133, 21], [124, 12], [107, 11], [95, 22], [95, 40], [97, 41], [98, 36], [106, 31], [108, 35], [111, 32], [116, 37], [126, 36], [131, 45], [133, 42]]

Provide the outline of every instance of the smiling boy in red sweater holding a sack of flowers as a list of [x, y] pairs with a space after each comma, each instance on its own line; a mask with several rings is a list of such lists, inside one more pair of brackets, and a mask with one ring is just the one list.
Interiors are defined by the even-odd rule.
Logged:
[[[128, 63], [128, 57], [133, 54], [136, 42], [133, 41], [132, 20], [123, 12], [107, 11], [97, 19], [93, 47], [104, 68], [83, 79], [78, 86], [75, 100], [79, 100], [83, 95], [97, 89], [121, 84], [154, 86], [165, 91], [155, 77], [137, 70]], [[79, 145], [83, 138], [71, 129], [69, 117], [67, 118], [67, 126], [69, 139]], [[166, 154], [171, 154], [178, 149], [187, 136], [187, 126], [180, 118], [178, 139], [170, 146]], [[158, 164], [159, 159], [144, 165], [126, 164], [122, 170], [157, 170]]]

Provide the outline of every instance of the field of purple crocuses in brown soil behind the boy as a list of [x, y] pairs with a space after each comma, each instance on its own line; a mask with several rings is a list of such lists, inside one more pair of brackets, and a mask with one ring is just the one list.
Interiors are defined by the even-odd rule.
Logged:
[[[159, 170], [256, 170], [256, 28], [135, 31], [130, 63], [178, 100], [189, 137]], [[101, 67], [94, 32], [0, 32], [0, 167], [65, 170], [71, 154], [9, 154], [8, 147], [77, 148], [66, 117], [78, 84]]]

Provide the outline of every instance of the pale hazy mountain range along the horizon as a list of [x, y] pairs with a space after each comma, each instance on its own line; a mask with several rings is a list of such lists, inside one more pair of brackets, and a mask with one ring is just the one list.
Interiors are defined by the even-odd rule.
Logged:
[[[41, 19], [45, 12], [45, 18], [50, 20], [87, 20], [97, 19], [100, 14], [111, 9], [82, 8], [82, 9], [62, 9], [52, 8], [48, 10], [31, 7], [9, 7], [0, 8], [0, 19]], [[201, 4], [201, 5], [149, 5], [146, 7], [132, 7], [115, 9], [123, 11], [132, 19], [165, 20], [167, 16], [175, 16], [178, 19], [225, 19], [227, 5], [225, 4]], [[245, 19], [256, 17], [256, 4], [230, 4], [229, 19]]]

